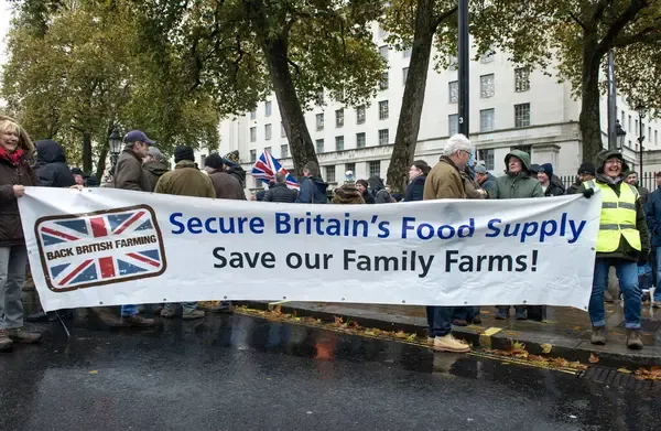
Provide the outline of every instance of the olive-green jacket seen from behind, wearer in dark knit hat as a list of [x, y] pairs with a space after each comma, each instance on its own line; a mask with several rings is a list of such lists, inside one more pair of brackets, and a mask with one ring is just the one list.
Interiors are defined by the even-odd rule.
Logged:
[[174, 171], [164, 173], [156, 183], [154, 192], [178, 196], [216, 197], [212, 180], [188, 160], [182, 160], [174, 166]]

